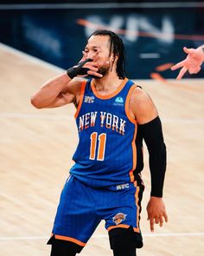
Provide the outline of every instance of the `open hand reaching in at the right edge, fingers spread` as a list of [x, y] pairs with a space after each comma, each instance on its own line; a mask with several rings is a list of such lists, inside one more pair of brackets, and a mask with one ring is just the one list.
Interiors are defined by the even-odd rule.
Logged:
[[177, 80], [182, 79], [187, 70], [190, 74], [197, 74], [201, 70], [201, 64], [204, 62], [204, 44], [197, 49], [184, 47], [183, 50], [188, 54], [186, 59], [171, 67], [171, 70], [182, 68], [176, 77]]

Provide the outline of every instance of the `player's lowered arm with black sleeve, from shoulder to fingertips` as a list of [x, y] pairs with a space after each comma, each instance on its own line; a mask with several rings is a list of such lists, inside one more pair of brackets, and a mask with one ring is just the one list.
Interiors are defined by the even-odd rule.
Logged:
[[131, 95], [130, 109], [143, 134], [149, 151], [151, 193], [147, 206], [150, 230], [154, 224], [163, 226], [168, 216], [163, 202], [163, 181], [166, 171], [166, 146], [163, 141], [163, 129], [158, 111], [150, 95], [142, 89], [135, 89]]

